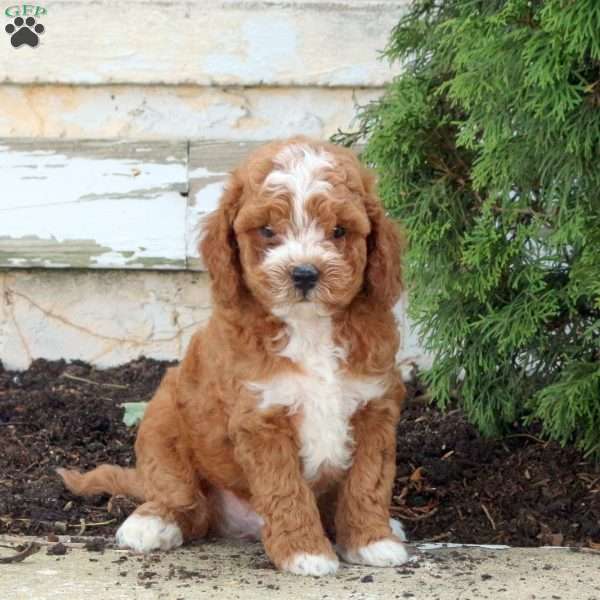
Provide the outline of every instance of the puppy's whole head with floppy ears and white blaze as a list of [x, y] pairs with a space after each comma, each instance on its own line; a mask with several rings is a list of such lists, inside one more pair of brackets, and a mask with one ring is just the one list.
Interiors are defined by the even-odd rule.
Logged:
[[201, 251], [214, 301], [258, 301], [285, 318], [355, 299], [389, 308], [400, 293], [400, 242], [355, 155], [296, 138], [256, 150], [231, 176]]

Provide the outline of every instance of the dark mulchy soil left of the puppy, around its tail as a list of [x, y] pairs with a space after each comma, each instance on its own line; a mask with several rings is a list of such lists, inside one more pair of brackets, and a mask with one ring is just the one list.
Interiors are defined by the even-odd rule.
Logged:
[[167, 366], [139, 360], [102, 371], [36, 360], [9, 372], [0, 365], [0, 533], [112, 534], [133, 503], [73, 496], [54, 470], [132, 465], [135, 431], [122, 423], [120, 405], [150, 400]]

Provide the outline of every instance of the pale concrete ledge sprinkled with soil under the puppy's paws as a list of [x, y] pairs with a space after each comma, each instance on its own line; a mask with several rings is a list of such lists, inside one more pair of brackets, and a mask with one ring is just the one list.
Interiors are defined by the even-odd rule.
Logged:
[[[11, 545], [23, 538], [2, 539]], [[394, 569], [342, 565], [335, 577], [275, 571], [260, 544], [210, 542], [136, 556], [71, 544], [0, 564], [0, 600], [600, 600], [600, 555], [567, 548], [412, 546]], [[0, 548], [0, 556], [10, 550]]]

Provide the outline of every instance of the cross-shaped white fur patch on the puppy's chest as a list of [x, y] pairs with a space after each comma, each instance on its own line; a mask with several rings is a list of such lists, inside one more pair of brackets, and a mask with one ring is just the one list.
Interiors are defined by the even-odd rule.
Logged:
[[341, 369], [345, 352], [332, 339], [329, 317], [314, 312], [286, 318], [289, 342], [281, 352], [301, 367], [301, 374], [278, 376], [250, 387], [262, 395], [259, 408], [289, 407], [301, 415], [300, 457], [307, 479], [321, 467], [347, 469], [352, 463], [350, 418], [354, 412], [384, 391], [374, 377], [350, 377]]

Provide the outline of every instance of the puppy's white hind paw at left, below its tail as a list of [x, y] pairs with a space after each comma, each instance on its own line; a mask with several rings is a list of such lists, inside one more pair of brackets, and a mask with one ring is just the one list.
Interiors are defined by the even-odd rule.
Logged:
[[175, 523], [153, 515], [132, 514], [117, 531], [117, 544], [136, 552], [170, 550], [183, 544], [181, 529]]

